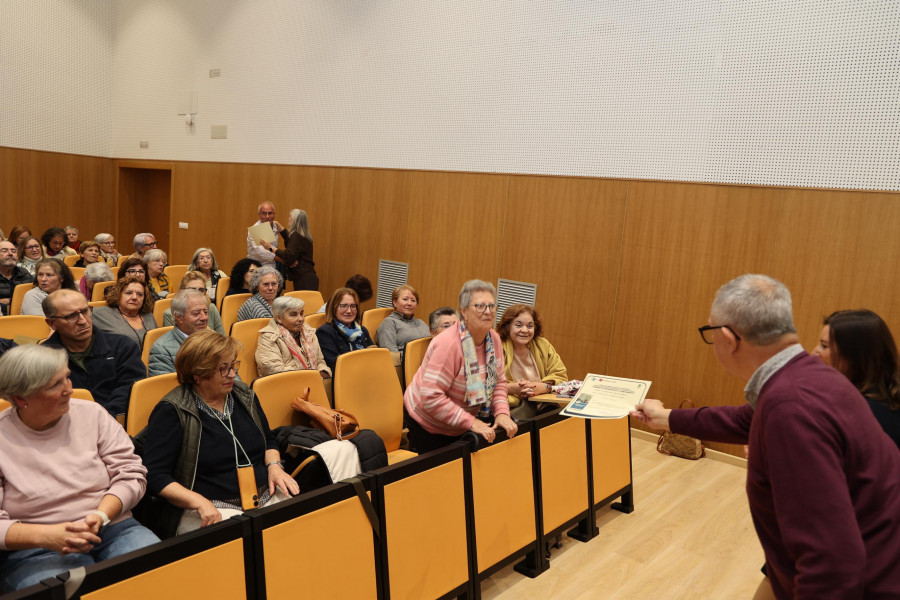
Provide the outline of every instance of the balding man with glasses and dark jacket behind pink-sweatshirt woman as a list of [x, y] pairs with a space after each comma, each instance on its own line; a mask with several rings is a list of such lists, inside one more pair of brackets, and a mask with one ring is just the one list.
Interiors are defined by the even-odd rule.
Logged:
[[111, 415], [125, 414], [131, 386], [147, 376], [134, 340], [94, 327], [91, 307], [76, 291], [53, 292], [42, 308], [53, 330], [45, 345], [68, 354], [72, 386], [90, 390]]

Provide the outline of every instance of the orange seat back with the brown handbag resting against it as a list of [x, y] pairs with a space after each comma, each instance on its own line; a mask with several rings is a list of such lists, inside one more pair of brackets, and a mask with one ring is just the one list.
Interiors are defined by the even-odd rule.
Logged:
[[291, 408], [291, 400], [309, 388], [309, 399], [319, 406], [330, 406], [325, 384], [318, 371], [288, 371], [260, 377], [253, 382], [253, 391], [269, 420], [269, 427], [302, 425], [304, 419]]

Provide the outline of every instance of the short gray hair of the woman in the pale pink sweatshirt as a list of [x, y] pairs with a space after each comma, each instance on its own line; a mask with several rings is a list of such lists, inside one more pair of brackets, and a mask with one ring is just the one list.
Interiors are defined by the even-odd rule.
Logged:
[[28, 398], [45, 387], [69, 364], [62, 348], [40, 344], [16, 346], [0, 357], [0, 397]]

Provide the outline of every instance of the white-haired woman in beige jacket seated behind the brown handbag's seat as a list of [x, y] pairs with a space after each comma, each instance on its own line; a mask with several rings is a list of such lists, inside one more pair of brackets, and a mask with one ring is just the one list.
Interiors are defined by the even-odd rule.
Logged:
[[303, 322], [304, 303], [300, 298], [282, 296], [272, 303], [272, 319], [259, 330], [256, 369], [260, 375], [285, 371], [318, 371], [331, 377], [316, 330]]

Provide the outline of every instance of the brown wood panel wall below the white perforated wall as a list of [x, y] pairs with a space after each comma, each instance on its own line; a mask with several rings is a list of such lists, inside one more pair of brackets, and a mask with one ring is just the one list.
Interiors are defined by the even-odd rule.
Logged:
[[[0, 225], [109, 230], [118, 164], [0, 149]], [[188, 162], [171, 170], [172, 263], [209, 246], [228, 271], [246, 255], [260, 202], [273, 201], [283, 224], [303, 208], [326, 297], [356, 272], [374, 283], [381, 258], [409, 263], [423, 318], [454, 306], [466, 279], [534, 282], [546, 336], [571, 377], [650, 379], [651, 396], [669, 406], [743, 402], [742, 382], [697, 333], [716, 289], [741, 273], [788, 285], [807, 348], [840, 308], [871, 308], [900, 333], [900, 193]]]

